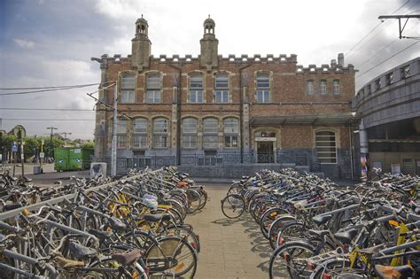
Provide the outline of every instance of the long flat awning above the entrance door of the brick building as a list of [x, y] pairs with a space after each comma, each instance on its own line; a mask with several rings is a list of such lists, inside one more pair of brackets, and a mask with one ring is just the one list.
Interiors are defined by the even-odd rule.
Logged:
[[324, 113], [313, 115], [287, 115], [276, 117], [253, 117], [249, 121], [251, 125], [277, 124], [277, 125], [315, 125], [315, 126], [334, 126], [352, 124], [358, 118], [351, 112], [343, 113]]

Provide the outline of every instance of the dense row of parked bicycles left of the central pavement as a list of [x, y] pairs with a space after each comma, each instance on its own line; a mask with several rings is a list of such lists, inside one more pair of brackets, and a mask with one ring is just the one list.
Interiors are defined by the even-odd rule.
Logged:
[[199, 236], [184, 221], [206, 205], [203, 186], [175, 167], [97, 184], [75, 179], [70, 198], [0, 221], [0, 278], [195, 275]]

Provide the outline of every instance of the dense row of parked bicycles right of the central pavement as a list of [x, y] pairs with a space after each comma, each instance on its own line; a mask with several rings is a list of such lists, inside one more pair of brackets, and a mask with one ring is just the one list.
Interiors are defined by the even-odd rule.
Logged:
[[273, 252], [270, 278], [419, 278], [420, 178], [381, 174], [354, 187], [292, 169], [234, 182], [222, 213], [249, 213]]

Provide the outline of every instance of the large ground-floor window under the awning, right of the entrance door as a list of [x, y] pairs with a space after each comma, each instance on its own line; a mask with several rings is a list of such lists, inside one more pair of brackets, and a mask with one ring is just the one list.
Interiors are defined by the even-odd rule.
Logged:
[[322, 164], [337, 163], [337, 143], [336, 134], [334, 132], [316, 132], [315, 149], [318, 159]]

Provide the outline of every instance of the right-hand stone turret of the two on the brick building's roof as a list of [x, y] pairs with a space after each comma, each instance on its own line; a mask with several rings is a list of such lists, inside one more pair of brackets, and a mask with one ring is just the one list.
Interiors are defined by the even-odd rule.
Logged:
[[211, 72], [212, 68], [219, 65], [219, 57], [217, 47], [219, 41], [214, 35], [215, 23], [213, 19], [208, 19], [204, 21], [204, 35], [203, 38], [199, 41], [201, 45], [201, 52], [199, 57], [199, 63], [201, 67], [206, 67], [207, 72]]

